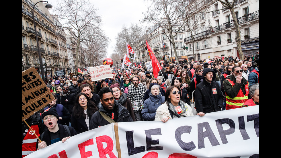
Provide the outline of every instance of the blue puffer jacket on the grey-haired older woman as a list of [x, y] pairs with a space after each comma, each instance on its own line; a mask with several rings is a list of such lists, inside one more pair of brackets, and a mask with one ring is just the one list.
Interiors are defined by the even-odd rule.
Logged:
[[154, 121], [157, 108], [165, 102], [165, 97], [159, 93], [159, 95], [149, 94], [149, 98], [145, 100], [143, 104], [143, 110], [141, 114], [143, 120]]

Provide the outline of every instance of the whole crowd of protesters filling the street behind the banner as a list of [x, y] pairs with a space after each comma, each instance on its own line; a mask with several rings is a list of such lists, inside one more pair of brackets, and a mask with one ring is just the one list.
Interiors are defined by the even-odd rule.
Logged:
[[22, 157], [112, 122], [165, 123], [259, 105], [259, 53], [209, 60], [164, 63], [159, 72], [113, 67], [112, 78], [99, 81], [88, 74], [46, 78], [55, 99], [26, 119], [40, 141], [22, 123]]

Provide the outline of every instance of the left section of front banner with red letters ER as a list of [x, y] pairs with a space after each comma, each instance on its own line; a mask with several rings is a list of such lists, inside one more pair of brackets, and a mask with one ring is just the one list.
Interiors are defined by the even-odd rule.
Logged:
[[86, 158], [106, 157], [105, 155], [117, 158], [113, 127], [109, 124], [77, 134], [64, 143], [59, 141], [29, 154], [25, 158]]

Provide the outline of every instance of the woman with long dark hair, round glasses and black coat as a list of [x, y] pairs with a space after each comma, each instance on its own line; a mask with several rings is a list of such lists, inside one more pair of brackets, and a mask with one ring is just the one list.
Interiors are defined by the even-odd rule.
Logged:
[[97, 110], [95, 103], [85, 93], [77, 95], [71, 115], [71, 126], [77, 134], [89, 130], [91, 117]]

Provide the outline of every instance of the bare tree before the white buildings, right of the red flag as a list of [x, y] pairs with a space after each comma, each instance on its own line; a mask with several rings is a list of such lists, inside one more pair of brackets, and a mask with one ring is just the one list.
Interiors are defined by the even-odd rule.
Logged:
[[144, 22], [154, 22], [159, 25], [171, 44], [173, 45], [175, 59], [178, 61], [174, 37], [178, 33], [184, 32], [184, 22], [182, 13], [179, 10], [181, 1], [179, 0], [151, 0], [152, 6], [146, 11]]

